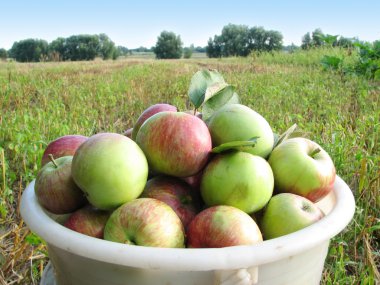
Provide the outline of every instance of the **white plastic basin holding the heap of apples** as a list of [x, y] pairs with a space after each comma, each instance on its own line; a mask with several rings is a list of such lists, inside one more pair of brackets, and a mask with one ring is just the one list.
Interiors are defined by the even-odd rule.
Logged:
[[[337, 177], [318, 203], [326, 216], [301, 231], [254, 246], [166, 249], [124, 245], [71, 231], [38, 204], [34, 182], [25, 189], [21, 215], [43, 238], [54, 270], [42, 285], [317, 285], [329, 240], [351, 221], [355, 201]], [[54, 281], [47, 281], [49, 274]]]

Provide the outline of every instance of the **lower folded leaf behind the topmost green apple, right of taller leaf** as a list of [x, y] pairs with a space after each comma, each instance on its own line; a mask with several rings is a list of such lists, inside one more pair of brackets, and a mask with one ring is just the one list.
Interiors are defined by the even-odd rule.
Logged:
[[[221, 85], [219, 87], [221, 87]], [[216, 91], [216, 93], [211, 94], [212, 96], [203, 104], [202, 119], [206, 122], [223, 106], [239, 103], [239, 96], [236, 94], [235, 88], [232, 85], [227, 84], [219, 89], [218, 86], [213, 85], [209, 88], [212, 89], [212, 91]], [[212, 91], [210, 91], [210, 93]]]

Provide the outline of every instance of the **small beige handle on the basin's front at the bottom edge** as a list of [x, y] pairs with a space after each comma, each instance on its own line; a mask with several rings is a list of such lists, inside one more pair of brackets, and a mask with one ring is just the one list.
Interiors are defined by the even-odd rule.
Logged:
[[254, 285], [258, 284], [258, 279], [258, 267], [219, 270], [215, 271], [214, 285]]

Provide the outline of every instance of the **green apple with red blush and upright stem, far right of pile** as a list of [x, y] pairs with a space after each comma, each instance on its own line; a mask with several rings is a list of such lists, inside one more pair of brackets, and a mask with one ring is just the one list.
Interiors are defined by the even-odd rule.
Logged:
[[333, 188], [335, 167], [330, 156], [316, 142], [291, 138], [271, 153], [276, 191], [294, 193], [317, 202]]

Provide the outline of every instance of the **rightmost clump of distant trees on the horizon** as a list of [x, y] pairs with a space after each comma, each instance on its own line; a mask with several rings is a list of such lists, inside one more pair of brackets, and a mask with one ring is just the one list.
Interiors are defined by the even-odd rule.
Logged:
[[353, 47], [355, 42], [359, 40], [356, 38], [346, 38], [338, 35], [324, 34], [321, 29], [315, 29], [311, 34], [307, 32], [302, 37], [302, 49], [309, 49], [322, 46], [339, 46], [343, 48]]

